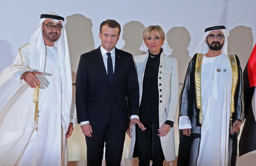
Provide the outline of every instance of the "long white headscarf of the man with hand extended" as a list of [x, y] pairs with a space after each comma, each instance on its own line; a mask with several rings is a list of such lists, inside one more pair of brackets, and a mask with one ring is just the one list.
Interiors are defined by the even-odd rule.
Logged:
[[[58, 16], [57, 13], [48, 12], [48, 15]], [[42, 24], [46, 19], [52, 18], [41, 18], [37, 29], [33, 32], [30, 38], [30, 62], [29, 66], [33, 70], [38, 70], [44, 73], [45, 62], [46, 62], [46, 46], [44, 44]], [[52, 19], [54, 22], [61, 21], [62, 26], [63, 20]], [[60, 64], [60, 76], [62, 78], [62, 125], [63, 131], [66, 132], [70, 122], [70, 109], [72, 98], [72, 79], [71, 79], [71, 68], [70, 58], [68, 50], [68, 40], [66, 36], [65, 27], [63, 26], [60, 33], [60, 37], [54, 42], [54, 46], [57, 48], [58, 61]], [[40, 93], [39, 93], [40, 95]]]

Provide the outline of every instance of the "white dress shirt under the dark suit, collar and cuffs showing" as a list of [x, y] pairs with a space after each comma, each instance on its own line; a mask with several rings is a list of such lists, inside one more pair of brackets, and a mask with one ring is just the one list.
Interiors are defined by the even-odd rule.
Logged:
[[[100, 50], [101, 50], [103, 63], [105, 65], [105, 69], [106, 69], [106, 72], [107, 72], [107, 53], [108, 53], [108, 51], [105, 50], [102, 46], [100, 47]], [[110, 53], [111, 53], [111, 59], [112, 59], [112, 63], [113, 63], [113, 73], [114, 73], [114, 65], [115, 65], [115, 59], [116, 59], [116, 49], [113, 48], [113, 50], [111, 50]], [[139, 116], [138, 115], [132, 115], [130, 117], [130, 119], [133, 119], [133, 118], [139, 119]], [[89, 120], [80, 122], [80, 125], [82, 126], [82, 125], [87, 124], [87, 123], [90, 123]]]

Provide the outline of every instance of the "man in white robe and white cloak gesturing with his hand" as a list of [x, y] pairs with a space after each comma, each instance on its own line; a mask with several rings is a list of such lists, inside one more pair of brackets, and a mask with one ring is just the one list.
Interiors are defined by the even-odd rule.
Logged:
[[67, 165], [75, 124], [64, 18], [41, 15], [30, 43], [0, 75], [0, 165]]

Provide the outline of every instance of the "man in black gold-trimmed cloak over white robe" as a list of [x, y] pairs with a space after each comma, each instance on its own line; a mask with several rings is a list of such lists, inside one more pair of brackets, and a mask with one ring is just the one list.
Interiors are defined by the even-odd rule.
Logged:
[[242, 70], [224, 26], [205, 29], [180, 96], [178, 166], [235, 165], [244, 120]]

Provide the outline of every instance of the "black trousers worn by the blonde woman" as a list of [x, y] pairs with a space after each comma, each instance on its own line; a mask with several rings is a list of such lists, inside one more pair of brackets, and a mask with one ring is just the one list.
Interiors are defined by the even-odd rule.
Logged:
[[136, 127], [136, 146], [139, 157], [139, 166], [149, 166], [152, 160], [152, 166], [162, 166], [164, 161], [164, 153], [160, 142], [159, 122], [143, 121], [146, 130], [142, 131]]

